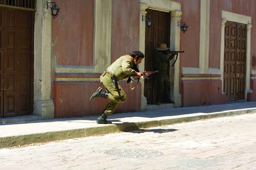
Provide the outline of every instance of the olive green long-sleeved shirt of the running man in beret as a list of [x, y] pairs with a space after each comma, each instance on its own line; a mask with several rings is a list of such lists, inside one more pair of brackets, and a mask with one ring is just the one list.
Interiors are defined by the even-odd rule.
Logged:
[[107, 68], [107, 71], [110, 74], [115, 75], [118, 80], [122, 80], [128, 78], [129, 76], [137, 76], [136, 71], [132, 69], [133, 65], [133, 57], [130, 55], [125, 55], [119, 57], [119, 59], [113, 62]]

